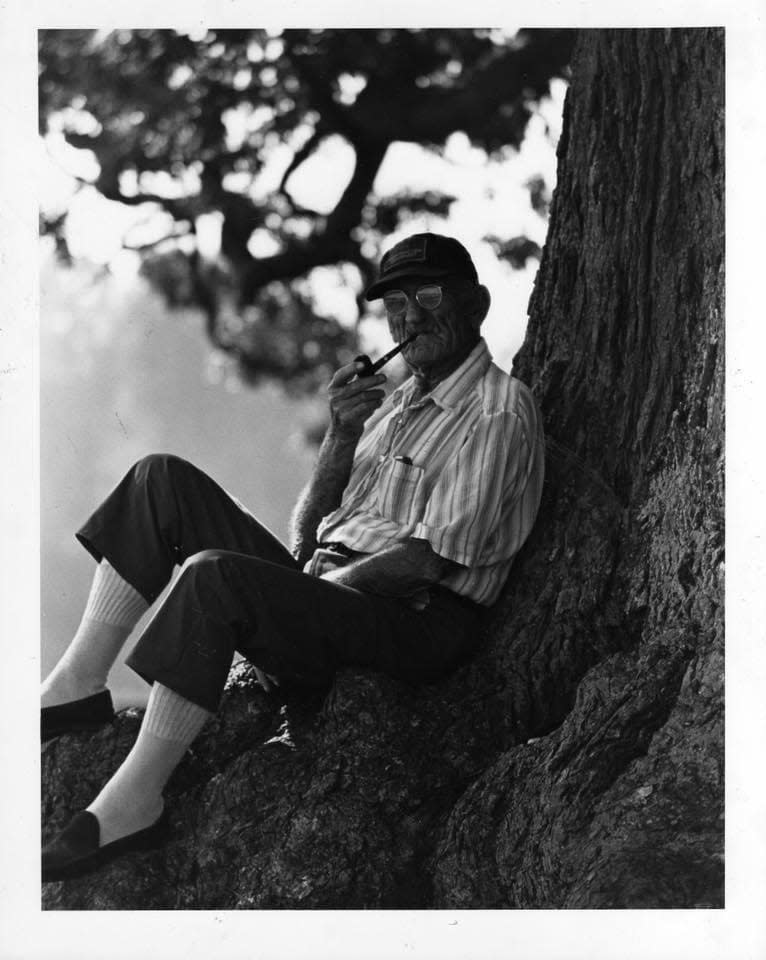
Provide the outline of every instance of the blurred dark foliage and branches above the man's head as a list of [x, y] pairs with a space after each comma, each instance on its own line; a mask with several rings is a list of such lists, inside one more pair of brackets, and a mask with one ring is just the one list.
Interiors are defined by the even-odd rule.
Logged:
[[[376, 195], [391, 144], [438, 152], [463, 131], [488, 154], [518, 148], [551, 79], [566, 76], [571, 46], [562, 30], [43, 30], [41, 132], [55, 123], [92, 151], [104, 197], [164, 212], [167, 234], [138, 248], [142, 269], [170, 305], [204, 310], [211, 341], [246, 378], [306, 384], [355, 339], [317, 310], [312, 271], [340, 265], [361, 304], [382, 239], [454, 200], [437, 185]], [[353, 172], [331, 210], [312, 209], [291, 177], [332, 137], [352, 148]], [[281, 179], [264, 187], [280, 149]], [[544, 204], [540, 183], [530, 190]], [[215, 257], [197, 242], [210, 214]], [[66, 215], [42, 230], [66, 258]], [[517, 265], [539, 253], [525, 237], [492, 242]]]

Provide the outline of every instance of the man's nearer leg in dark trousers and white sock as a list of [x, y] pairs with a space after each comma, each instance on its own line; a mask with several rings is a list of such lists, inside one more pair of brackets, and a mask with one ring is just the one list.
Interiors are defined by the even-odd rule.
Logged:
[[[237, 649], [263, 670], [306, 685], [329, 682], [345, 664], [429, 681], [470, 652], [477, 626], [474, 606], [446, 591], [414, 611], [259, 558], [196, 554], [127, 661], [154, 688], [133, 750], [88, 808], [100, 845], [156, 821], [162, 789], [217, 709]], [[55, 876], [68, 849], [65, 830], [43, 851], [44, 876]]]

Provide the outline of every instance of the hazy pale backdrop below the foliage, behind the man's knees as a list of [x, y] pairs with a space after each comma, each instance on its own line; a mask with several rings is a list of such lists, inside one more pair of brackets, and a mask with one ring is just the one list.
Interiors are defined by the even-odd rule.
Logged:
[[[283, 541], [314, 460], [309, 398], [238, 389], [217, 376], [197, 312], [169, 315], [146, 281], [93, 273], [51, 256], [41, 271], [41, 678], [74, 635], [93, 576], [74, 532], [138, 459], [190, 460]], [[122, 663], [145, 622], [109, 677], [117, 709], [146, 702]]]

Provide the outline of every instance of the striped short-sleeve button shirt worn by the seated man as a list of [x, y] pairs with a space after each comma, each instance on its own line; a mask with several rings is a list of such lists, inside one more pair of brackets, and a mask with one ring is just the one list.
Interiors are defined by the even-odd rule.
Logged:
[[544, 438], [531, 391], [484, 340], [422, 397], [414, 378], [367, 421], [320, 542], [377, 553], [411, 537], [453, 560], [442, 585], [491, 604], [526, 540], [542, 494]]

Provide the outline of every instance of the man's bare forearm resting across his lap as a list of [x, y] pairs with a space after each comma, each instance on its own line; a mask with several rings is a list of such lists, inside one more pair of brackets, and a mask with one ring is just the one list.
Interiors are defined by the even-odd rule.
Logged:
[[442, 580], [456, 564], [426, 540], [403, 540], [325, 574], [325, 579], [385, 597], [411, 597]]

